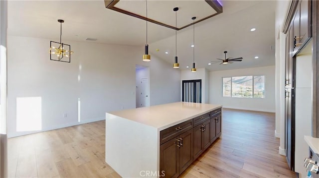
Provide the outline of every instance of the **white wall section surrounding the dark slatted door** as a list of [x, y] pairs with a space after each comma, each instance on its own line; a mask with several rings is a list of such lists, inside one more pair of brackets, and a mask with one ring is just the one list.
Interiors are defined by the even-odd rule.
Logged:
[[188, 70], [181, 71], [181, 80], [197, 79], [201, 79], [201, 103], [209, 103], [209, 72], [206, 70], [206, 68], [197, 68], [196, 72], [191, 72], [190, 68]]

